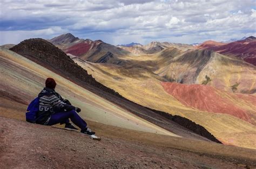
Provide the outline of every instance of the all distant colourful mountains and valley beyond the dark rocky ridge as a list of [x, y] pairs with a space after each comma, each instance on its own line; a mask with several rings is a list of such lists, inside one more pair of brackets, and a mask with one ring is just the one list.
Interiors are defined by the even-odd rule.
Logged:
[[[186, 117], [222, 143], [254, 147], [256, 69], [245, 62], [254, 59], [253, 52], [248, 52], [255, 51], [254, 37], [229, 44], [207, 41], [198, 46], [152, 42], [124, 47], [90, 42], [96, 45], [79, 55], [69, 52], [72, 45], [62, 50], [98, 82], [137, 104]], [[73, 46], [83, 43], [88, 44], [84, 40]], [[248, 49], [230, 47], [237, 44]], [[220, 47], [225, 53], [217, 50]], [[241, 57], [245, 53], [247, 57]], [[223, 120], [230, 127], [225, 128]], [[239, 127], [238, 132], [238, 124], [246, 127]]]

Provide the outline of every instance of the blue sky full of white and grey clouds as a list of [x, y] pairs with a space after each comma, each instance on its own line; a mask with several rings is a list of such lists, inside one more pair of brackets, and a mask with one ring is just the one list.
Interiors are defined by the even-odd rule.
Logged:
[[72, 33], [110, 44], [256, 36], [255, 0], [0, 0], [0, 45]]

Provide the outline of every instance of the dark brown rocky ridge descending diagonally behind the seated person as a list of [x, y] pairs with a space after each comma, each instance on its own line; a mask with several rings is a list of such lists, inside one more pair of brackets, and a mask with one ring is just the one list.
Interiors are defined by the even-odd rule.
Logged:
[[[44, 49], [44, 52], [41, 51], [42, 48]], [[55, 69], [58, 68], [61, 71], [63, 71], [63, 72], [59, 72], [60, 75], [64, 74], [66, 77], [70, 77], [70, 78], [71, 78], [70, 75], [72, 75], [72, 76], [78, 78], [79, 80], [82, 80], [85, 83], [93, 85], [93, 87], [96, 87], [97, 89], [99, 89], [99, 90], [101, 90], [103, 92], [111, 94], [110, 96], [108, 96], [106, 94], [104, 95], [102, 92], [99, 92], [98, 90], [95, 91], [95, 89], [91, 89], [92, 92], [96, 92], [96, 93], [100, 94], [100, 96], [105, 96], [107, 99], [111, 98], [112, 101], [114, 101], [113, 99], [116, 96], [117, 98], [123, 99], [125, 102], [129, 103], [130, 106], [133, 106], [133, 107], [136, 106], [137, 107], [137, 108], [134, 107], [133, 110], [137, 109], [138, 111], [142, 111], [142, 109], [143, 109], [144, 111], [149, 111], [149, 109], [147, 109], [146, 107], [134, 104], [130, 100], [127, 100], [123, 96], [120, 96], [120, 94], [117, 93], [116, 91], [114, 91], [114, 90], [110, 89], [109, 87], [106, 87], [106, 86], [98, 83], [94, 78], [92, 78], [91, 75], [88, 75], [86, 70], [84, 70], [79, 65], [75, 64], [73, 62], [73, 60], [69, 58], [69, 56], [66, 56], [63, 51], [61, 51], [60, 49], [58, 49], [57, 47], [52, 45], [50, 42], [48, 42], [48, 41], [46, 41], [44, 39], [28, 39], [28, 40], [24, 40], [22, 43], [14, 46], [14, 48], [12, 48], [11, 50], [15, 51], [17, 53], [20, 53], [21, 55], [23, 55], [25, 57], [28, 57], [30, 59], [32, 57], [33, 59], [36, 59], [37, 62], [39, 60], [43, 60], [44, 62], [47, 62], [48, 64], [50, 64], [50, 66], [54, 66]], [[38, 53], [38, 51], [41, 51], [41, 55], [37, 55], [36, 54], [36, 53]], [[54, 53], [56, 53], [57, 55], [55, 55]], [[56, 57], [60, 58], [60, 59], [57, 60]], [[42, 64], [40, 62], [38, 62], [38, 63]], [[79, 81], [76, 81], [75, 78], [71, 78], [71, 79], [72, 79], [73, 82], [78, 82], [78, 84], [81, 84], [81, 83], [79, 83]], [[87, 86], [85, 84], [83, 84], [82, 86], [85, 86], [86, 89], [90, 90], [89, 86]], [[119, 105], [120, 104], [120, 100], [116, 100], [116, 101], [114, 101], [114, 103]], [[121, 104], [121, 106], [122, 106], [122, 104]], [[125, 108], [128, 109], [128, 110], [131, 109], [128, 106], [126, 106]], [[150, 112], [150, 113], [151, 114], [153, 114], [153, 113], [156, 114], [156, 112]], [[186, 121], [186, 123], [189, 124], [189, 123], [192, 123], [192, 121]], [[184, 125], [184, 124], [179, 124], [179, 125]], [[164, 127], [166, 127], [166, 126], [164, 126]], [[218, 140], [214, 136], [212, 136], [211, 133], [207, 133], [207, 130], [203, 129], [202, 126], [197, 125], [197, 127], [198, 127], [198, 129], [197, 129], [196, 132], [198, 134], [203, 134], [202, 136], [206, 136], [209, 139], [212, 139], [212, 140], [218, 142]], [[168, 129], [168, 128], [166, 128], [166, 129]]]

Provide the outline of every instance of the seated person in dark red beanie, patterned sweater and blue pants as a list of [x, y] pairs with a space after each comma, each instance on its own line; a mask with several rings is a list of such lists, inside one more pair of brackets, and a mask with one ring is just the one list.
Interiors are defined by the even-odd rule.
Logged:
[[77, 112], [81, 109], [70, 104], [69, 100], [63, 99], [60, 94], [55, 91], [56, 82], [52, 78], [47, 78], [44, 89], [38, 94], [39, 111], [37, 113], [37, 124], [55, 125], [66, 124], [69, 129], [76, 129], [70, 122], [77, 125], [84, 134], [92, 135], [95, 132], [91, 131], [86, 122], [80, 118]]

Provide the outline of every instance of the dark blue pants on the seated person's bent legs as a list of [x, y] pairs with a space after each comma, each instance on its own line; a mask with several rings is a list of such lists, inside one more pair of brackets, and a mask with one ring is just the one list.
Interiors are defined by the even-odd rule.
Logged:
[[86, 129], [86, 122], [82, 118], [80, 118], [75, 110], [51, 114], [51, 118], [47, 125], [51, 126], [58, 123], [63, 123], [63, 121], [69, 121], [69, 118], [71, 119], [73, 124], [77, 125], [81, 130]]

